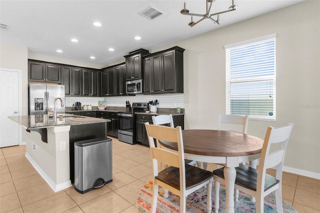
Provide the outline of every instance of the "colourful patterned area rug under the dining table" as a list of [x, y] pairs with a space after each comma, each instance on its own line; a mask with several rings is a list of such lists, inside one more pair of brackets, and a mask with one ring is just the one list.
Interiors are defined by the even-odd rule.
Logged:
[[[204, 212], [206, 211], [206, 188], [202, 187], [197, 191], [189, 194], [186, 197], [186, 211], [187, 212]], [[220, 185], [219, 193], [219, 212], [224, 212], [225, 207], [225, 188]], [[250, 202], [250, 196], [239, 191], [239, 198], [234, 202], [234, 211], [240, 212], [255, 212], [255, 203]], [[136, 200], [136, 207], [138, 212], [150, 212], [152, 201], [152, 180], [145, 183], [138, 193]], [[159, 187], [159, 195], [157, 201], [156, 212], [180, 212], [180, 197], [169, 191], [169, 197], [163, 197], [163, 190]], [[282, 200], [283, 212], [297, 212], [291, 205]], [[277, 212], [275, 205], [275, 197], [269, 194], [264, 198], [264, 212]], [[212, 184], [212, 212], [214, 212], [214, 184]]]

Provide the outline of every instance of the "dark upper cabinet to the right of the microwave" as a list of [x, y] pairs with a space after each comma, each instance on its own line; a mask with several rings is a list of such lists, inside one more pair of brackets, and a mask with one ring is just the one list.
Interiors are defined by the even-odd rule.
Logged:
[[183, 93], [183, 51], [174, 46], [143, 58], [144, 94]]

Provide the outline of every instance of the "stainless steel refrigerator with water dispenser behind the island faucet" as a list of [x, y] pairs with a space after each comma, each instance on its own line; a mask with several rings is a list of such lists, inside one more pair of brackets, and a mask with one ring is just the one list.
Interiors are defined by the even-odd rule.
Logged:
[[64, 113], [64, 95], [64, 85], [29, 83], [29, 115], [47, 114], [49, 108], [53, 110], [53, 102], [56, 97], [60, 97], [63, 101], [63, 106], [61, 106], [60, 100], [56, 100], [56, 113]]

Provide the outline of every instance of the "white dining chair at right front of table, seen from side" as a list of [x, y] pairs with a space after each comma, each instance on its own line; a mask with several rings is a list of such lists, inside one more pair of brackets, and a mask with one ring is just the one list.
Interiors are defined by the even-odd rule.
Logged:
[[[293, 123], [281, 127], [267, 128], [260, 154], [258, 169], [239, 164], [236, 170], [235, 185], [238, 190], [247, 193], [256, 199], [256, 212], [263, 212], [263, 200], [266, 195], [275, 191], [277, 212], [282, 212], [282, 167], [286, 146], [290, 137]], [[276, 147], [271, 144], [279, 143]], [[275, 177], [266, 173], [267, 168], [275, 167]], [[213, 170], [215, 190], [215, 212], [219, 210], [219, 187], [224, 182], [223, 168]]]

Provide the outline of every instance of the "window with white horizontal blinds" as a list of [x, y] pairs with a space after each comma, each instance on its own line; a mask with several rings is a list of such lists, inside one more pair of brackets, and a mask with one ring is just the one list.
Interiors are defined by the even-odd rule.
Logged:
[[275, 120], [275, 34], [224, 48], [226, 114]]

